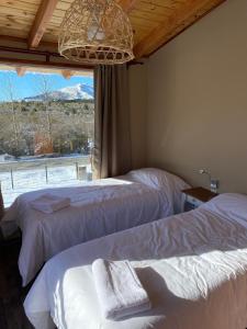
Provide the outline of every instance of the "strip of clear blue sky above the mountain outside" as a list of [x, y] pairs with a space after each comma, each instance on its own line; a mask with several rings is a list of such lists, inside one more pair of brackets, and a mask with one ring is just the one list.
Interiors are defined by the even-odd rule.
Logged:
[[[14, 71], [0, 70], [0, 102], [9, 101], [10, 95], [8, 86], [11, 81], [13, 86], [13, 98], [20, 100], [26, 97], [34, 97], [41, 92], [43, 73], [26, 72], [19, 77]], [[66, 80], [61, 75], [45, 75], [49, 90], [58, 90], [64, 87], [75, 86], [77, 83], [87, 83], [93, 86], [92, 77], [71, 77]]]

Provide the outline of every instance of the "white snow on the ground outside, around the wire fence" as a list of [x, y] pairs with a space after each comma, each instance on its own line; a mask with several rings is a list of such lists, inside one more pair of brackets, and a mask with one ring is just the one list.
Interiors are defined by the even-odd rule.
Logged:
[[[90, 179], [91, 166], [87, 166], [88, 178]], [[0, 172], [1, 190], [3, 195], [4, 206], [10, 206], [13, 201], [22, 193], [47, 189], [59, 188], [67, 185], [81, 185], [86, 180], [77, 179], [77, 169], [75, 166], [55, 166], [46, 171], [44, 168], [32, 170], [13, 171], [13, 180], [11, 172]], [[13, 182], [13, 186], [12, 186]]]

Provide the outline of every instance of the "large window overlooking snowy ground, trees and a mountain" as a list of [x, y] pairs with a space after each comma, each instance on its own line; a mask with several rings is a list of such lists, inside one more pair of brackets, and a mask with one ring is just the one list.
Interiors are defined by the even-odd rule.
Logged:
[[93, 77], [0, 71], [0, 180], [21, 193], [92, 179]]

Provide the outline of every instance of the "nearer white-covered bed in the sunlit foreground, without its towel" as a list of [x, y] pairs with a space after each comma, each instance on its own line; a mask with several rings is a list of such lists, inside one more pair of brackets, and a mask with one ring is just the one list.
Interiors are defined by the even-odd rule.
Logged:
[[[97, 258], [131, 260], [151, 310], [102, 318]], [[247, 196], [222, 194], [195, 211], [70, 248], [49, 260], [24, 308], [37, 329], [245, 329]], [[52, 321], [52, 318], [53, 321]]]

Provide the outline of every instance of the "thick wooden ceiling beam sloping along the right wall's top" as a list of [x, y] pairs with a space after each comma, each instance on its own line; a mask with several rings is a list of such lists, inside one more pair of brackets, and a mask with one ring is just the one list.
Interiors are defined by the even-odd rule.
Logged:
[[226, 0], [188, 0], [184, 5], [158, 24], [135, 47], [136, 58], [149, 56]]

